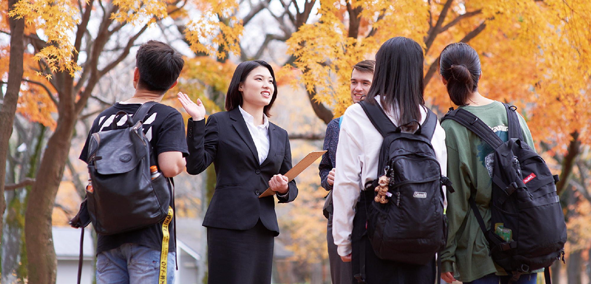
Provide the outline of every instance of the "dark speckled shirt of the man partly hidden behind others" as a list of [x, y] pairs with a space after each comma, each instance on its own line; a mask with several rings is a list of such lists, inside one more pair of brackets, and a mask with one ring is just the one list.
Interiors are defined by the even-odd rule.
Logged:
[[320, 160], [320, 165], [318, 166], [320, 170], [320, 185], [327, 191], [332, 190], [333, 187], [327, 182], [327, 177], [330, 170], [336, 165], [336, 146], [339, 143], [340, 131], [339, 120], [340, 118], [337, 117], [326, 125], [326, 136], [324, 136], [322, 150], [327, 151], [322, 155], [322, 160]]

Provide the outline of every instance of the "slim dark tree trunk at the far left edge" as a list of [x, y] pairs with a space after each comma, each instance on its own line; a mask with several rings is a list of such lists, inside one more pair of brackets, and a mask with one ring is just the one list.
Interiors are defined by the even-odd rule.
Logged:
[[[8, 0], [8, 9], [17, 3], [17, 0]], [[16, 20], [8, 17], [10, 25], [10, 61], [8, 64], [8, 83], [6, 95], [0, 107], [0, 161], [6, 161], [8, 155], [8, 140], [12, 135], [12, 123], [17, 111], [18, 93], [21, 90], [22, 57], [25, 51], [23, 37], [25, 20]], [[4, 214], [6, 201], [4, 200], [4, 181], [6, 176], [6, 162], [0, 163], [0, 213]], [[2, 240], [2, 218], [0, 218], [0, 240]]]

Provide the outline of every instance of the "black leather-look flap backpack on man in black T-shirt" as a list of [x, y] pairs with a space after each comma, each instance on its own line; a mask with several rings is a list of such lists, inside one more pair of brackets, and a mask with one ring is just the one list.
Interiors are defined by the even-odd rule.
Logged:
[[[146, 102], [133, 118], [119, 111], [111, 130], [93, 133], [89, 141], [88, 171], [92, 192], [86, 192], [87, 211], [96, 233], [109, 235], [137, 230], [164, 220], [171, 194], [167, 179], [151, 179], [155, 158], [142, 120], [156, 102]], [[126, 115], [125, 127], [118, 127]]]

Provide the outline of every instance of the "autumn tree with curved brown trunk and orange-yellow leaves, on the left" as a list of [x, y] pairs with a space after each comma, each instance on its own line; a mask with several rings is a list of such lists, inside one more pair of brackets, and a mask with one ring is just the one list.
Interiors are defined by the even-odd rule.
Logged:
[[[199, 17], [187, 23], [191, 48], [207, 54], [238, 51], [235, 43], [241, 33], [239, 22], [231, 17], [226, 22], [219, 22], [212, 17], [229, 15], [236, 7], [234, 1], [42, 0], [19, 1], [14, 4], [14, 9], [6, 7], [7, 10], [2, 11], [3, 16], [8, 11], [10, 17], [26, 23], [24, 30], [3, 31], [11, 37], [20, 34], [27, 38], [35, 50], [36, 63], [33, 66], [23, 64], [18, 51], [10, 53], [11, 60], [14, 58], [21, 66], [36, 72], [34, 84], [47, 89], [47, 98], [57, 109], [53, 133], [28, 196], [29, 203], [35, 204], [28, 207], [25, 215], [29, 283], [54, 283], [56, 279], [51, 209], [63, 175], [74, 125], [93, 89], [102, 76], [129, 55], [138, 37], [150, 25], [165, 17], [176, 17], [175, 13], [184, 5], [193, 5], [199, 11]], [[11, 48], [13, 46], [22, 47], [23, 44], [14, 44]], [[109, 50], [117, 55], [104, 56]], [[8, 72], [15, 73], [14, 69], [11, 64]], [[15, 74], [20, 86], [22, 75], [18, 78], [18, 72]], [[11, 88], [11, 92], [14, 90]], [[26, 93], [21, 92], [21, 95]], [[7, 117], [14, 117], [14, 111]], [[8, 120], [3, 118], [2, 121], [2, 125], [6, 125], [4, 121]], [[4, 150], [5, 145], [1, 146]]]

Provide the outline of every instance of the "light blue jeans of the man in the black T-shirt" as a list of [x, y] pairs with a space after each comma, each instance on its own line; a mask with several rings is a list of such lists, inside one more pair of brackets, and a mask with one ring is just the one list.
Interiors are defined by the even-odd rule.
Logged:
[[[166, 280], [174, 283], [175, 253], [168, 253]], [[122, 244], [96, 256], [96, 284], [157, 284], [160, 251], [139, 244]]]

